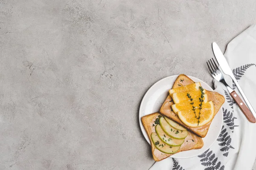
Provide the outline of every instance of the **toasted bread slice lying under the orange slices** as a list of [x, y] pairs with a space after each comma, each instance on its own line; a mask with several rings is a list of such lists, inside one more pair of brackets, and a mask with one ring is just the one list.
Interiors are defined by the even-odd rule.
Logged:
[[[192, 83], [195, 83], [192, 79], [187, 77], [185, 74], [180, 74], [175, 80], [172, 88], [178, 88], [180, 86], [189, 85]], [[208, 101], [212, 101], [214, 103], [214, 116], [215, 116], [218, 113], [219, 109], [221, 108], [221, 105], [225, 102], [225, 98], [224, 96], [222, 96], [221, 94], [218, 94], [217, 92], [206, 91], [206, 93], [208, 95]], [[183, 122], [181, 122], [179, 117], [172, 111], [171, 106], [173, 104], [174, 102], [172, 101], [172, 97], [168, 95], [162, 107], [160, 108], [160, 113], [162, 113], [164, 116], [168, 117], [169, 119], [172, 119], [173, 121], [177, 122], [178, 124], [185, 127], [186, 129], [192, 131], [193, 133], [197, 134], [198, 136], [204, 138], [207, 135], [207, 132], [209, 130], [209, 127], [212, 121], [200, 127], [188, 127]]]

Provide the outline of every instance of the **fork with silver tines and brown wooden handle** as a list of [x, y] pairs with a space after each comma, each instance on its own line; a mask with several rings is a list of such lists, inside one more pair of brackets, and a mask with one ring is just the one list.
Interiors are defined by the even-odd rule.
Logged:
[[255, 120], [255, 117], [253, 116], [253, 113], [247, 108], [247, 106], [244, 104], [242, 99], [238, 96], [236, 91], [234, 91], [232, 88], [230, 88], [230, 86], [227, 84], [227, 82], [225, 81], [224, 76], [223, 76], [223, 71], [221, 70], [221, 68], [218, 68], [218, 66], [215, 63], [213, 58], [208, 60], [207, 66], [209, 68], [210, 73], [212, 74], [212, 77], [227, 87], [227, 91], [230, 93], [230, 96], [232, 96], [232, 98], [236, 101], [236, 104], [239, 106], [239, 108], [244, 113], [246, 118], [250, 122], [255, 123], [256, 120]]

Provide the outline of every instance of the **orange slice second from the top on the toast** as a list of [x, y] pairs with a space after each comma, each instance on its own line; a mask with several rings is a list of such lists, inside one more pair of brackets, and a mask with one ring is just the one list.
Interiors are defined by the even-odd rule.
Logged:
[[[208, 96], [207, 96], [207, 94], [205, 94], [205, 90], [203, 92], [204, 92], [204, 100], [207, 102]], [[181, 103], [181, 102], [190, 101], [187, 94], [189, 94], [192, 97], [192, 99], [199, 100], [199, 97], [201, 96], [201, 91], [189, 91], [189, 92], [183, 92], [183, 93], [173, 93], [172, 94], [173, 102], [175, 104], [177, 104], [177, 103]]]

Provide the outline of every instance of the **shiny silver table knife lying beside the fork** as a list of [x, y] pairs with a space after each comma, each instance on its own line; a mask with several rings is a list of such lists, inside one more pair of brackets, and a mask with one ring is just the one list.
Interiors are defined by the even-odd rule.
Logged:
[[[248, 106], [250, 111], [253, 113], [253, 116], [256, 117], [256, 113], [255, 113], [252, 105], [250, 104], [249, 100], [245, 96], [245, 94], [244, 94], [243, 90], [241, 89], [239, 83], [236, 81], [236, 78], [235, 78], [234, 74], [232, 73], [232, 70], [231, 70], [230, 66], [227, 63], [226, 58], [222, 54], [221, 49], [218, 47], [216, 42], [212, 42], [212, 49], [213, 49], [213, 53], [215, 55], [215, 58], [217, 59], [218, 64], [221, 67], [222, 71], [224, 72], [224, 74], [229, 75], [231, 77], [231, 79], [233, 79], [233, 82], [236, 84], [236, 87], [238, 88], [241, 96], [243, 97], [244, 102], [246, 103], [246, 105]], [[242, 105], [242, 103], [240, 103], [240, 104]]]

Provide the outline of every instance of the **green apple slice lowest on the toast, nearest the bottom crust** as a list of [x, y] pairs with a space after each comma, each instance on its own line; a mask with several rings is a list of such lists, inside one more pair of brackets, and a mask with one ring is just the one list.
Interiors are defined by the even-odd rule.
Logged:
[[168, 144], [163, 143], [155, 132], [151, 133], [151, 139], [154, 146], [163, 153], [173, 154], [180, 149], [180, 146], [169, 146]]

